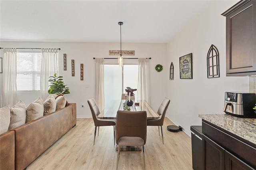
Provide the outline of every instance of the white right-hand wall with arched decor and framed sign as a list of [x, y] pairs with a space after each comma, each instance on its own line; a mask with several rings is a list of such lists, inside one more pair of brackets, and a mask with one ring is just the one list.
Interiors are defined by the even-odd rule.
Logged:
[[[249, 92], [248, 77], [226, 77], [226, 18], [222, 12], [238, 1], [214, 1], [167, 45], [174, 80], [168, 80], [171, 100], [166, 116], [190, 135], [191, 125], [201, 125], [198, 114], [224, 113], [224, 92]], [[220, 54], [220, 78], [207, 78], [206, 56], [214, 44]], [[179, 57], [192, 53], [193, 79], [180, 79]]]

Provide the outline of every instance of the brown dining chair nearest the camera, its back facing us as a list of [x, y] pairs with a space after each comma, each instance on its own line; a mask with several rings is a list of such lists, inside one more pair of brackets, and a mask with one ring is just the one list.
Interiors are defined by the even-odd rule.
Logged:
[[118, 168], [120, 146], [142, 146], [145, 168], [144, 144], [147, 139], [147, 112], [146, 111], [117, 111], [116, 114], [116, 144], [118, 155], [116, 169]]

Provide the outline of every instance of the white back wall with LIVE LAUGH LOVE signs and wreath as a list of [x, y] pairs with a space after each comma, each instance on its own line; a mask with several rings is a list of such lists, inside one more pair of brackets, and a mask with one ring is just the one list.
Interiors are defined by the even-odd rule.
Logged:
[[[95, 95], [95, 60], [93, 57], [115, 57], [109, 56], [108, 51], [119, 50], [120, 43], [1, 42], [1, 47], [60, 48], [59, 75], [64, 76], [64, 83], [70, 88], [70, 94], [65, 96], [69, 103], [77, 104], [77, 117], [91, 117], [87, 100]], [[124, 50], [135, 50], [135, 56], [130, 57], [152, 57], [150, 60], [150, 96], [151, 105], [157, 111], [160, 102], [166, 97], [166, 80], [168, 79], [166, 43], [122, 43], [122, 47]], [[67, 71], [63, 70], [64, 53], [67, 54]], [[2, 55], [3, 50], [1, 50]], [[75, 60], [75, 77], [71, 76], [71, 59]], [[81, 63], [84, 64], [84, 81], [80, 81]], [[156, 64], [163, 65], [162, 72], [155, 71]], [[2, 74], [0, 74], [0, 78], [2, 78]], [[85, 88], [86, 84], [89, 85], [89, 88]], [[18, 93], [18, 100], [21, 99], [28, 105], [39, 96], [40, 93], [21, 92]], [[82, 108], [83, 103], [84, 108]]]

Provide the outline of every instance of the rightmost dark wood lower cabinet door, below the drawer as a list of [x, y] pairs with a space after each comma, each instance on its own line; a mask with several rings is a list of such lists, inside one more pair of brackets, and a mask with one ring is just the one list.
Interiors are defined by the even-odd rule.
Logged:
[[245, 162], [228, 151], [225, 151], [225, 164], [226, 170], [253, 170], [252, 167], [248, 166]]

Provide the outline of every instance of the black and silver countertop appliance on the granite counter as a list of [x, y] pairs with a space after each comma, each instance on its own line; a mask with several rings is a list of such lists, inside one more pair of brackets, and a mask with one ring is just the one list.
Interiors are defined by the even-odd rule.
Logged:
[[246, 92], [225, 92], [223, 111], [236, 117], [256, 117], [256, 94]]

